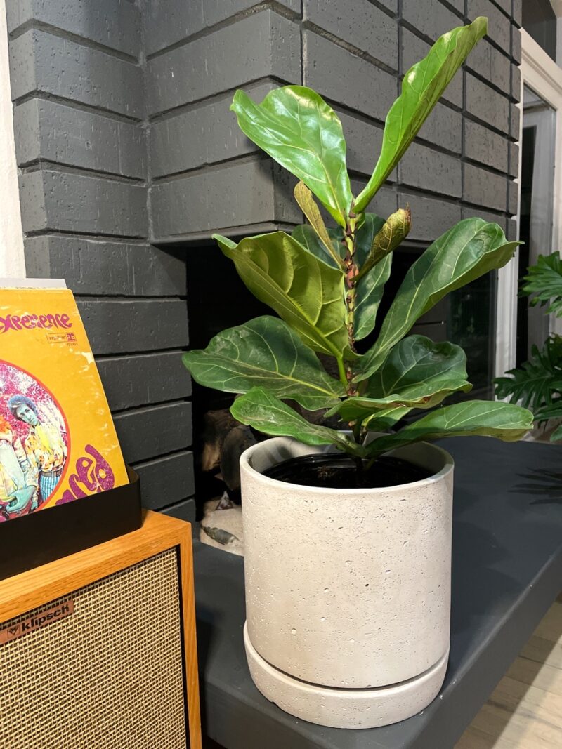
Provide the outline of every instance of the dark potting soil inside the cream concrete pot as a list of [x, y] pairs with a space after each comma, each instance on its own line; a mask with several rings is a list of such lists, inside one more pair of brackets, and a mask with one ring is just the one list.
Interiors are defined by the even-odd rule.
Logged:
[[348, 455], [327, 453], [289, 458], [268, 468], [263, 475], [288, 484], [326, 489], [380, 489], [427, 479], [432, 471], [386, 456], [377, 458], [367, 469], [366, 462], [361, 465]]

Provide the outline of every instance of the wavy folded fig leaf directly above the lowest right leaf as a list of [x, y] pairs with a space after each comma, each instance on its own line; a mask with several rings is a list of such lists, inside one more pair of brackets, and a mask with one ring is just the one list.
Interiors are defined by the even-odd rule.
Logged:
[[370, 377], [364, 395], [339, 401], [327, 415], [363, 422], [388, 407], [432, 408], [452, 392], [471, 390], [466, 378], [466, 356], [460, 346], [408, 336]]

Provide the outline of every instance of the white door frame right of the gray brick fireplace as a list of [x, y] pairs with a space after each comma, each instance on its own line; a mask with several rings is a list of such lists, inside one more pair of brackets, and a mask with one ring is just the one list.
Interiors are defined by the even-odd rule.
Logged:
[[[544, 49], [525, 31], [521, 30], [521, 77], [523, 84], [536, 91], [557, 113], [555, 129], [555, 185], [554, 215], [552, 225], [552, 247], [561, 247], [562, 240], [562, 68], [558, 67]], [[519, 103], [522, 110], [522, 103]], [[523, 117], [519, 130], [521, 145]], [[521, 184], [521, 159], [519, 159], [519, 176]], [[519, 237], [519, 205], [517, 201], [517, 237]], [[500, 377], [516, 365], [517, 342], [517, 294], [518, 294], [518, 256], [498, 272], [498, 306], [496, 313], [496, 355], [495, 373]]]

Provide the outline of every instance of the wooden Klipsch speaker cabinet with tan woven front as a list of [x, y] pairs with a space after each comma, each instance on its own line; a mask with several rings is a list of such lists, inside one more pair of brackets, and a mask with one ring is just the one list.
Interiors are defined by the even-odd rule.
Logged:
[[1, 749], [201, 749], [190, 524], [0, 581]]

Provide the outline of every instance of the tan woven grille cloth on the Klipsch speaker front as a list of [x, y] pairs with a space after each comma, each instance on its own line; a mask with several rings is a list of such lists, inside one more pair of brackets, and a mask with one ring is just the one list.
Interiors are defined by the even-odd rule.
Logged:
[[74, 613], [0, 646], [2, 749], [188, 746], [175, 549], [4, 622]]

